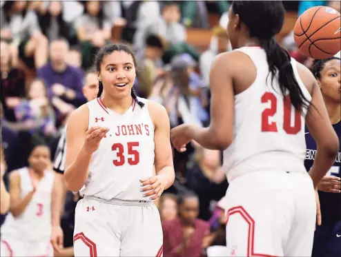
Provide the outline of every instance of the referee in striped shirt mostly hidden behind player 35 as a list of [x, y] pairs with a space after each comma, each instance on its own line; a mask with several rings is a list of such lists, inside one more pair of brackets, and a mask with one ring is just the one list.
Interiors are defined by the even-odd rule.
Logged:
[[[82, 92], [87, 101], [92, 101], [97, 98], [98, 93], [98, 79], [95, 68], [90, 68], [84, 76], [84, 86]], [[66, 127], [59, 138], [55, 160], [53, 163], [53, 169], [56, 172], [55, 186], [54, 186], [54, 198], [52, 198], [51, 203], [51, 214], [52, 214], [52, 233], [51, 233], [51, 243], [52, 247], [61, 254], [61, 251], [71, 251], [70, 249], [64, 247], [64, 233], [61, 229], [61, 213], [63, 210], [64, 198], [66, 197], [66, 192], [68, 191], [66, 183], [64, 180], [64, 168], [66, 161]], [[73, 249], [72, 249], [73, 253]]]

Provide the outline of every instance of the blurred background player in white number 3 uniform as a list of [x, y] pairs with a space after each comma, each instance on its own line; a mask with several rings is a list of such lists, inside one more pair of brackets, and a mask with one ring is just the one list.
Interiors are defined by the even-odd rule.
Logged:
[[53, 256], [50, 208], [55, 172], [48, 170], [49, 148], [37, 145], [28, 163], [10, 173], [10, 213], [1, 227], [1, 256]]

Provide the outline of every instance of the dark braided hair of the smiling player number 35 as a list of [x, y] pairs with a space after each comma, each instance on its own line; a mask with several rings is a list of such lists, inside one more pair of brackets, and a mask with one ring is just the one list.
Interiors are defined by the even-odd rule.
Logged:
[[[103, 57], [108, 55], [108, 54], [111, 54], [112, 52], [115, 52], [115, 51], [126, 52], [127, 54], [130, 54], [133, 57], [135, 67], [137, 67], [133, 51], [130, 50], [128, 45], [124, 45], [121, 43], [114, 43], [112, 45], [106, 45], [104, 48], [101, 48], [101, 50], [99, 50], [97, 52], [97, 55], [95, 57], [97, 72], [101, 71], [101, 61], [103, 60]], [[99, 88], [98, 88], [97, 97], [101, 97], [102, 92], [103, 92], [103, 83], [101, 81], [99, 81]], [[131, 89], [130, 95], [131, 95], [131, 97], [133, 97], [133, 99], [139, 105], [139, 107], [144, 107], [144, 103], [142, 103], [142, 101], [139, 101], [139, 99], [137, 99], [137, 95], [135, 93], [134, 88]]]

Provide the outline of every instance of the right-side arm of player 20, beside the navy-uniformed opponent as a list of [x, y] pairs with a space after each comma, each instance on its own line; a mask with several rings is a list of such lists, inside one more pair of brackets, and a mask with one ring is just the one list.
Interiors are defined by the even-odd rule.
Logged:
[[317, 146], [315, 161], [309, 171], [309, 175], [316, 187], [335, 162], [339, 150], [339, 140], [331, 125], [321, 90], [313, 74], [299, 64], [298, 72], [312, 97], [311, 105], [306, 114], [306, 125]]

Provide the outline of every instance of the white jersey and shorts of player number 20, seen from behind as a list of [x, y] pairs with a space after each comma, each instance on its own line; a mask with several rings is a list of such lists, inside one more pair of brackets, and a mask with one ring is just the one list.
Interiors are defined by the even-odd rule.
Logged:
[[[224, 150], [229, 187], [226, 243], [231, 256], [311, 256], [315, 228], [313, 183], [304, 168], [305, 115], [282, 96], [262, 48], [245, 47], [254, 83], [235, 96], [233, 143]], [[306, 99], [296, 61], [295, 77]]]

